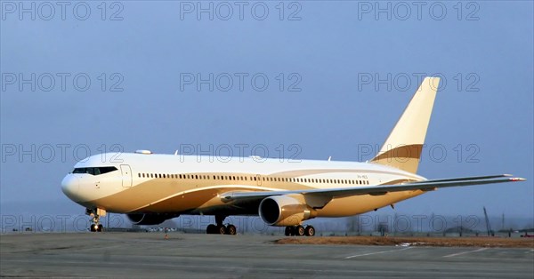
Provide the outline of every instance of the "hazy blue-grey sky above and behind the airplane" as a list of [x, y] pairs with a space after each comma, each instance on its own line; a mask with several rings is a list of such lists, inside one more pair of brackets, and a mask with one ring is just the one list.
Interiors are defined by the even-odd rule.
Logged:
[[61, 179], [112, 148], [365, 161], [437, 75], [419, 174], [528, 181], [397, 211], [534, 218], [530, 1], [19, 3], [0, 21], [3, 215], [82, 214]]

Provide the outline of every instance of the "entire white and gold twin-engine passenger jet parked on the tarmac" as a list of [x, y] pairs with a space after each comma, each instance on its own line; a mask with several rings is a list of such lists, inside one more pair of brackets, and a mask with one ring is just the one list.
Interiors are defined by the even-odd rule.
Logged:
[[61, 181], [72, 201], [102, 231], [107, 212], [134, 224], [157, 225], [181, 214], [214, 215], [206, 234], [236, 235], [228, 216], [260, 216], [285, 235], [315, 235], [303, 221], [345, 217], [392, 206], [441, 187], [523, 181], [508, 174], [425, 179], [417, 174], [440, 83], [425, 77], [376, 156], [366, 163], [239, 157], [210, 160], [149, 150], [90, 156]]

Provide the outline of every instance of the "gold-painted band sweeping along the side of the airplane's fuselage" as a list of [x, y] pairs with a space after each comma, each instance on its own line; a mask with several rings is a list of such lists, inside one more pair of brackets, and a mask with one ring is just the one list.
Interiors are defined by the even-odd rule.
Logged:
[[[325, 174], [328, 172], [352, 172], [354, 174], [352, 179], [354, 180], [360, 180], [357, 178], [357, 175], [362, 173], [362, 171], [343, 169], [282, 171], [270, 175], [262, 175], [259, 180], [254, 180], [253, 178], [258, 178], [250, 173], [194, 173], [189, 174], [190, 178], [197, 176], [198, 178], [203, 177], [208, 179], [150, 179], [134, 185], [134, 187], [125, 188], [125, 190], [120, 191], [117, 194], [93, 200], [89, 203], [99, 204], [99, 207], [104, 208], [107, 211], [115, 212], [156, 213], [172, 211], [176, 213], [190, 212], [196, 214], [199, 212], [210, 211], [211, 208], [231, 205], [223, 203], [219, 195], [232, 191], [243, 192], [320, 188], [320, 183], [318, 183], [318, 187], [311, 187], [301, 183], [288, 182], [287, 180], [288, 178], [293, 179], [295, 177]], [[177, 175], [175, 177], [177, 177]], [[217, 177], [226, 177], [227, 179], [213, 179]], [[247, 180], [243, 178], [247, 178]], [[400, 184], [401, 182], [408, 180], [413, 179], [396, 179], [381, 184]], [[336, 185], [336, 187], [350, 186], [342, 184]], [[353, 187], [358, 186], [355, 185]], [[318, 213], [321, 217], [353, 215], [380, 208], [391, 203], [397, 203], [401, 200], [420, 194], [422, 194], [420, 191], [407, 191], [379, 196], [355, 195], [336, 198], [328, 203], [323, 209], [319, 209]], [[239, 210], [234, 209], [233, 211], [232, 214], [239, 214]], [[257, 211], [257, 208], [255, 208], [254, 211]], [[250, 214], [250, 209], [243, 210], [241, 214]]]

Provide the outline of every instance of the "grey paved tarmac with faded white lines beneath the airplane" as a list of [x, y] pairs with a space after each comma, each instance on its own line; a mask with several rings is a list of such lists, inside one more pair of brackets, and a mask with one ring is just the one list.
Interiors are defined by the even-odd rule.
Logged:
[[0, 235], [1, 276], [534, 278], [528, 248], [288, 245], [283, 236]]

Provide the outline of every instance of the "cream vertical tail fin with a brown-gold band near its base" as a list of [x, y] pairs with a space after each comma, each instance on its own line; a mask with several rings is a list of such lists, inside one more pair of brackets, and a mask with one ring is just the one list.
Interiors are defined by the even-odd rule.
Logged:
[[417, 173], [439, 77], [425, 77], [372, 163]]

